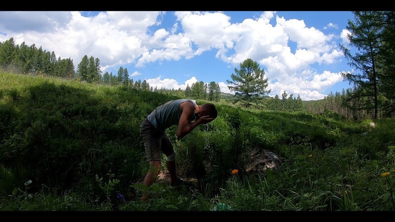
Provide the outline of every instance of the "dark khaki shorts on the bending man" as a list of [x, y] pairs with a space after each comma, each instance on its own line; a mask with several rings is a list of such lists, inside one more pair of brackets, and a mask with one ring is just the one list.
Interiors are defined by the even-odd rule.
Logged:
[[159, 161], [160, 151], [169, 155], [173, 153], [173, 144], [167, 134], [155, 128], [147, 118], [140, 124], [140, 135], [144, 141], [147, 161]]

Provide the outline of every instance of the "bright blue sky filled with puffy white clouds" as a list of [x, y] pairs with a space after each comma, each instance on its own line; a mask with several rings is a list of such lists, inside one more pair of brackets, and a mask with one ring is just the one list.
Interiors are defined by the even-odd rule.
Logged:
[[71, 58], [100, 59], [103, 74], [127, 68], [154, 88], [227, 80], [251, 58], [270, 96], [285, 90], [319, 100], [351, 87], [339, 44], [349, 46], [351, 11], [0, 11], [0, 41], [14, 38]]

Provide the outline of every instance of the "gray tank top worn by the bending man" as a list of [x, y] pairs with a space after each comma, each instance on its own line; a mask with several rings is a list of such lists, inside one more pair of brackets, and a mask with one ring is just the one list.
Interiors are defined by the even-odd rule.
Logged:
[[[178, 125], [180, 121], [181, 112], [180, 112], [180, 104], [188, 101], [194, 104], [196, 108], [196, 100], [190, 99], [178, 99], [169, 101], [163, 105], [158, 106], [157, 109], [151, 112], [147, 116], [147, 119], [152, 123], [155, 128], [164, 132], [164, 130], [172, 125]], [[191, 122], [195, 119], [195, 112], [188, 117], [188, 120]]]

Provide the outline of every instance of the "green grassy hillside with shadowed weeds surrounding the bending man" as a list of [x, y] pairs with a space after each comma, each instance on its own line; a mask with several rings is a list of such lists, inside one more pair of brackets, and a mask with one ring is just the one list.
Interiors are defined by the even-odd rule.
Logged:
[[[249, 111], [221, 101], [218, 117], [181, 141], [176, 127], [167, 130], [178, 175], [197, 178], [200, 188], [158, 183], [141, 202], [148, 164], [139, 125], [171, 99], [126, 86], [0, 73], [0, 209], [395, 210], [394, 120], [369, 128], [372, 120], [352, 122], [331, 111]], [[283, 164], [248, 175], [251, 148], [271, 150]]]

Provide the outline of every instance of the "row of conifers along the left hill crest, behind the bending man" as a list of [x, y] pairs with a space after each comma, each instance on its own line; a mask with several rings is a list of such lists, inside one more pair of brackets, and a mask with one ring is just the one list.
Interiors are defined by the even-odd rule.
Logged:
[[75, 79], [77, 81], [86, 81], [89, 83], [125, 85], [139, 90], [166, 93], [177, 96], [184, 96], [192, 99], [204, 99], [210, 101], [219, 101], [221, 90], [219, 84], [211, 81], [209, 84], [199, 81], [186, 86], [186, 89], [166, 89], [157, 87], [153, 88], [144, 79], [141, 81], [133, 80], [129, 77], [127, 68], [120, 67], [118, 74], [104, 73], [102, 75], [100, 59], [83, 56], [78, 64], [77, 71], [71, 58], [56, 59], [55, 52], [37, 48], [35, 44], [31, 46], [22, 42], [20, 45], [15, 44], [13, 37], [0, 42], [0, 69], [5, 72], [19, 74], [41, 74], [48, 76], [64, 77]]

